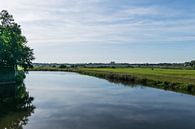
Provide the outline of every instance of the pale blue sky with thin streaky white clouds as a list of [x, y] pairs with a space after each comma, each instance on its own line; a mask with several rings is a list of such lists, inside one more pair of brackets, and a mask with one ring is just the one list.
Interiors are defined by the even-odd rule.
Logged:
[[195, 59], [195, 0], [4, 0], [0, 10], [21, 25], [34, 62]]

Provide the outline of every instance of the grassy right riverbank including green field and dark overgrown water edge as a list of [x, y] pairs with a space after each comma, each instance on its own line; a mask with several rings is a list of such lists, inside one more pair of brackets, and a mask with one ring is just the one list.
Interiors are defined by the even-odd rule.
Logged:
[[195, 70], [160, 68], [58, 68], [35, 67], [34, 71], [68, 71], [124, 84], [144, 84], [165, 90], [195, 94]]

